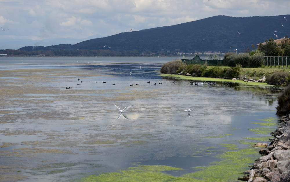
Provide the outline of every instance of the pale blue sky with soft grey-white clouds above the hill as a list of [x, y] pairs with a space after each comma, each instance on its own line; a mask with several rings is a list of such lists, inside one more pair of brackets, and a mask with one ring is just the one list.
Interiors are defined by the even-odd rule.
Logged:
[[0, 0], [0, 49], [75, 44], [216, 15], [285, 15], [289, 7], [289, 0]]

